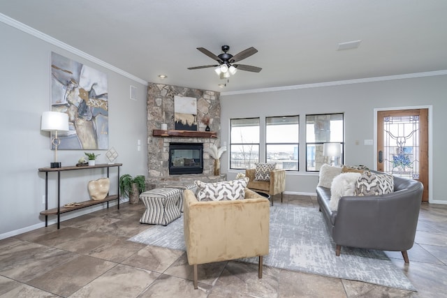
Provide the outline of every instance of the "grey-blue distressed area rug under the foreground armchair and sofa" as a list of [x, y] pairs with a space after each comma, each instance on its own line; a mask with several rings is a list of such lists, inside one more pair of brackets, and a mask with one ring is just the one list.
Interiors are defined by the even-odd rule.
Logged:
[[[186, 251], [183, 218], [166, 227], [151, 226], [129, 240]], [[270, 207], [269, 250], [263, 262], [270, 267], [416, 291], [383, 251], [342, 247], [342, 254], [337, 257], [335, 244], [318, 209], [285, 204]], [[258, 258], [240, 261], [257, 264]]]

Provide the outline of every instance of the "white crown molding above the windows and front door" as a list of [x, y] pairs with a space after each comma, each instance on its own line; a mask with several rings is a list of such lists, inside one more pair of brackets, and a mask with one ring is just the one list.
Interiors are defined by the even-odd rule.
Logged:
[[283, 87], [271, 87], [271, 88], [261, 88], [261, 89], [251, 89], [251, 90], [241, 90], [241, 91], [228, 91], [228, 92], [221, 92], [221, 96], [275, 92], [275, 91], [287, 91], [287, 90], [294, 90], [294, 89], [308, 89], [308, 88], [317, 88], [317, 87], [330, 87], [330, 86], [338, 86], [338, 85], [381, 82], [381, 81], [391, 81], [391, 80], [402, 80], [402, 79], [411, 79], [414, 77], [433, 77], [436, 75], [447, 75], [447, 70], [427, 71], [425, 73], [408, 73], [408, 74], [404, 74], [404, 75], [386, 75], [384, 77], [365, 77], [362, 79], [354, 79], [354, 80], [321, 82], [321, 83], [314, 83], [314, 84], [301, 84], [301, 85], [283, 86]]

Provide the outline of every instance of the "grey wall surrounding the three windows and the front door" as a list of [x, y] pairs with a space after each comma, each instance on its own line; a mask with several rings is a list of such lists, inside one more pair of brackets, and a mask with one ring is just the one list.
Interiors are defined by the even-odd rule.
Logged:
[[[236, 80], [236, 79], [235, 79]], [[377, 82], [339, 84], [286, 91], [251, 94], [221, 94], [221, 142], [229, 144], [231, 118], [283, 116], [299, 114], [300, 142], [305, 142], [305, 115], [344, 112], [345, 163], [367, 165], [374, 169], [373, 146], [364, 140], [374, 140], [374, 109], [432, 106], [432, 189], [430, 202], [447, 203], [444, 191], [447, 158], [445, 133], [447, 112], [447, 75], [406, 78]], [[262, 130], [261, 130], [262, 131]], [[356, 140], [360, 141], [356, 145]], [[302, 148], [302, 147], [301, 147]], [[305, 173], [305, 151], [300, 150], [300, 173], [286, 174], [286, 192], [315, 193], [317, 174]], [[228, 169], [228, 151], [221, 160], [221, 171], [233, 179], [237, 170]]]

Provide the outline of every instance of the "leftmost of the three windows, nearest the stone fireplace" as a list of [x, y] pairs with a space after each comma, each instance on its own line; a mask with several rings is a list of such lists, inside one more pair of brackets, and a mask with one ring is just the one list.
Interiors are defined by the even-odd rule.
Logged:
[[249, 169], [259, 161], [259, 118], [230, 119], [230, 169]]

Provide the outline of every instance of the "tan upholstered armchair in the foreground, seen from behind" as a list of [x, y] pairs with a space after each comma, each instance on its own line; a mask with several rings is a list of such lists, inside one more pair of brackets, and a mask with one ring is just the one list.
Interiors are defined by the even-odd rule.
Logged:
[[268, 255], [270, 203], [245, 189], [244, 200], [199, 202], [184, 191], [184, 240], [189, 265], [193, 265], [194, 288], [198, 288], [197, 265]]

